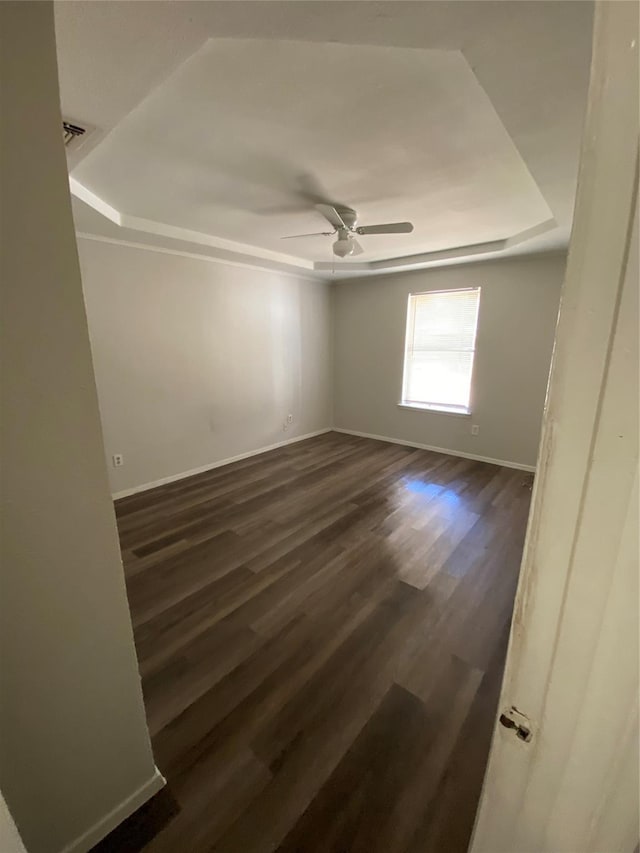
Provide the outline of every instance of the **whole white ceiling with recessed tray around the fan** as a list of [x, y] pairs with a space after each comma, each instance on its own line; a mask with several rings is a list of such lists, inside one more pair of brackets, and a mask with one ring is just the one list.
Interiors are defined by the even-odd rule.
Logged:
[[[305, 189], [361, 224], [367, 274], [567, 244], [585, 2], [61, 2], [79, 231], [307, 272], [333, 266]], [[106, 214], [106, 215], [105, 215]], [[472, 246], [469, 249], [466, 247]], [[462, 248], [461, 248], [462, 247]]]

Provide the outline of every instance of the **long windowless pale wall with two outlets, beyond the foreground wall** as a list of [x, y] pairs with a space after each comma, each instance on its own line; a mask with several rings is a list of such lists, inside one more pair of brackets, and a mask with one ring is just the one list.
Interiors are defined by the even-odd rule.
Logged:
[[91, 239], [79, 251], [113, 492], [331, 426], [328, 285]]

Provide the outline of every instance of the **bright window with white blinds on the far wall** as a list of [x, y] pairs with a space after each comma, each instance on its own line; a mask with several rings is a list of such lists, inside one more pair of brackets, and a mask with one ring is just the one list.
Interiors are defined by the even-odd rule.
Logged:
[[480, 288], [412, 293], [400, 405], [469, 414]]

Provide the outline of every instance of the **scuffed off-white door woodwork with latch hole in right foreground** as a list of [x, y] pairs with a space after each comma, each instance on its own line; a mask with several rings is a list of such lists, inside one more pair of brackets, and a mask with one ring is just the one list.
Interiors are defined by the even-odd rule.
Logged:
[[604, 0], [500, 699], [521, 728], [496, 721], [472, 853], [638, 842], [637, 168], [638, 6]]

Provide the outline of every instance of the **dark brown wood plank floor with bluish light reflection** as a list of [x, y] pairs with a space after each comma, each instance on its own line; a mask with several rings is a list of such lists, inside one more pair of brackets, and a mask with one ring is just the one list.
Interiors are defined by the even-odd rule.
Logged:
[[118, 501], [146, 853], [463, 853], [531, 481], [328, 433]]

